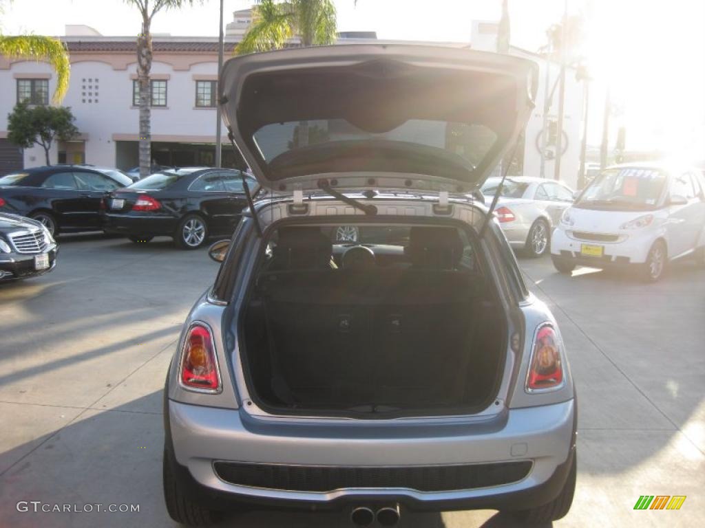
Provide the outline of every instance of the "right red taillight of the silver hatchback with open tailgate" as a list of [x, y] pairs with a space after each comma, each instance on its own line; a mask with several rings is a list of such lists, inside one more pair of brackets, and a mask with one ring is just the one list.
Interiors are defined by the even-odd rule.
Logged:
[[551, 325], [542, 325], [534, 339], [534, 348], [529, 358], [527, 391], [556, 389], [563, 384], [563, 362], [560, 360], [562, 344]]

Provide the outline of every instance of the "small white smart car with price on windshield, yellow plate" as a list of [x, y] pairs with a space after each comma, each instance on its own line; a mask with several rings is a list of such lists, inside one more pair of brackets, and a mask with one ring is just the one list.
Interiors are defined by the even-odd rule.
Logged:
[[551, 237], [561, 273], [577, 265], [631, 265], [655, 282], [669, 261], [685, 256], [705, 265], [705, 181], [691, 168], [607, 168], [565, 210]]

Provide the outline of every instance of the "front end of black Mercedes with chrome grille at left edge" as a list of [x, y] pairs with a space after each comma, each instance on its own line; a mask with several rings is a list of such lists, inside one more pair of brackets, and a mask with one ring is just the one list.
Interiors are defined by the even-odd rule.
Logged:
[[58, 251], [54, 237], [37, 220], [0, 213], [0, 282], [53, 270]]

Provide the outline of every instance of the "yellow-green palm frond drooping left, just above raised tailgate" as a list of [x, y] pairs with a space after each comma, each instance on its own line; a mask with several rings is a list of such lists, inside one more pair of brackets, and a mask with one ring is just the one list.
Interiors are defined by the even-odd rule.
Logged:
[[291, 4], [262, 0], [254, 9], [252, 25], [235, 47], [235, 54], [280, 49], [293, 35], [295, 19]]

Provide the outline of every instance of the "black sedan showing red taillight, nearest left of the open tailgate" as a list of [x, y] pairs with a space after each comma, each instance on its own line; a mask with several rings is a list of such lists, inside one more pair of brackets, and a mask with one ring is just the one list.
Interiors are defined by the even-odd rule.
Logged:
[[110, 194], [103, 212], [104, 230], [125, 234], [136, 244], [166, 235], [184, 249], [196, 249], [214, 235], [229, 236], [247, 206], [243, 175], [255, 194], [257, 182], [239, 170], [157, 172]]

